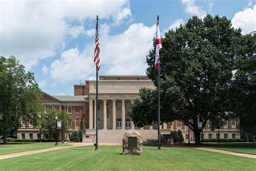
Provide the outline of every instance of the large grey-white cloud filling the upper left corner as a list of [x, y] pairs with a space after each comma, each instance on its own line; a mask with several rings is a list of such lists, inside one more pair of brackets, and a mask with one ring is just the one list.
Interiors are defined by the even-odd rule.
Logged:
[[128, 0], [0, 1], [0, 54], [14, 54], [30, 70], [38, 59], [62, 50], [67, 34], [79, 35], [83, 28], [72, 28], [70, 23], [90, 23], [96, 15], [120, 22], [130, 16], [129, 9]]

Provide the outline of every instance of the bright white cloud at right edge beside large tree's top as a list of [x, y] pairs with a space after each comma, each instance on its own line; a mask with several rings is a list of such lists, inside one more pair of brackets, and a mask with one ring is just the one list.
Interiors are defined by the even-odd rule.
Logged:
[[248, 8], [235, 13], [231, 22], [234, 28], [241, 28], [243, 34], [256, 31], [256, 5], [253, 9]]

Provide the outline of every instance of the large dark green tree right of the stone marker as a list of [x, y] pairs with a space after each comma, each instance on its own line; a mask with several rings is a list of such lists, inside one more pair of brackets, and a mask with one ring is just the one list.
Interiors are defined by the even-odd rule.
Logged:
[[[201, 129], [208, 119], [229, 119], [234, 72], [253, 54], [251, 35], [241, 35], [226, 17], [194, 16], [185, 25], [169, 30], [160, 50], [160, 120], [180, 120], [194, 132], [200, 144]], [[147, 76], [157, 87], [155, 49], [147, 56]], [[232, 94], [232, 95], [231, 95]], [[143, 126], [157, 122], [157, 90], [142, 88], [141, 99], [131, 105], [132, 120]], [[228, 113], [227, 113], [228, 112]]]

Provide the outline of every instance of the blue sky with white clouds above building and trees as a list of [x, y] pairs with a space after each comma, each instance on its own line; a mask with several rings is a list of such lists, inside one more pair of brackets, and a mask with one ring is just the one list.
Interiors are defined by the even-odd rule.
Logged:
[[226, 16], [243, 34], [256, 31], [256, 0], [0, 0], [0, 55], [20, 60], [42, 91], [73, 95], [73, 85], [96, 78], [97, 15], [99, 75], [142, 75], [157, 15], [164, 36], [207, 14]]

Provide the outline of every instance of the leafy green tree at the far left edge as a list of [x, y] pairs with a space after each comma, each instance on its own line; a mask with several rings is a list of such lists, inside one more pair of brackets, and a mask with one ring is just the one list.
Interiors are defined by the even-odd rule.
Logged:
[[21, 117], [36, 125], [43, 98], [33, 73], [25, 72], [14, 56], [0, 57], [0, 97], [0, 134], [6, 143], [9, 133], [17, 131]]

